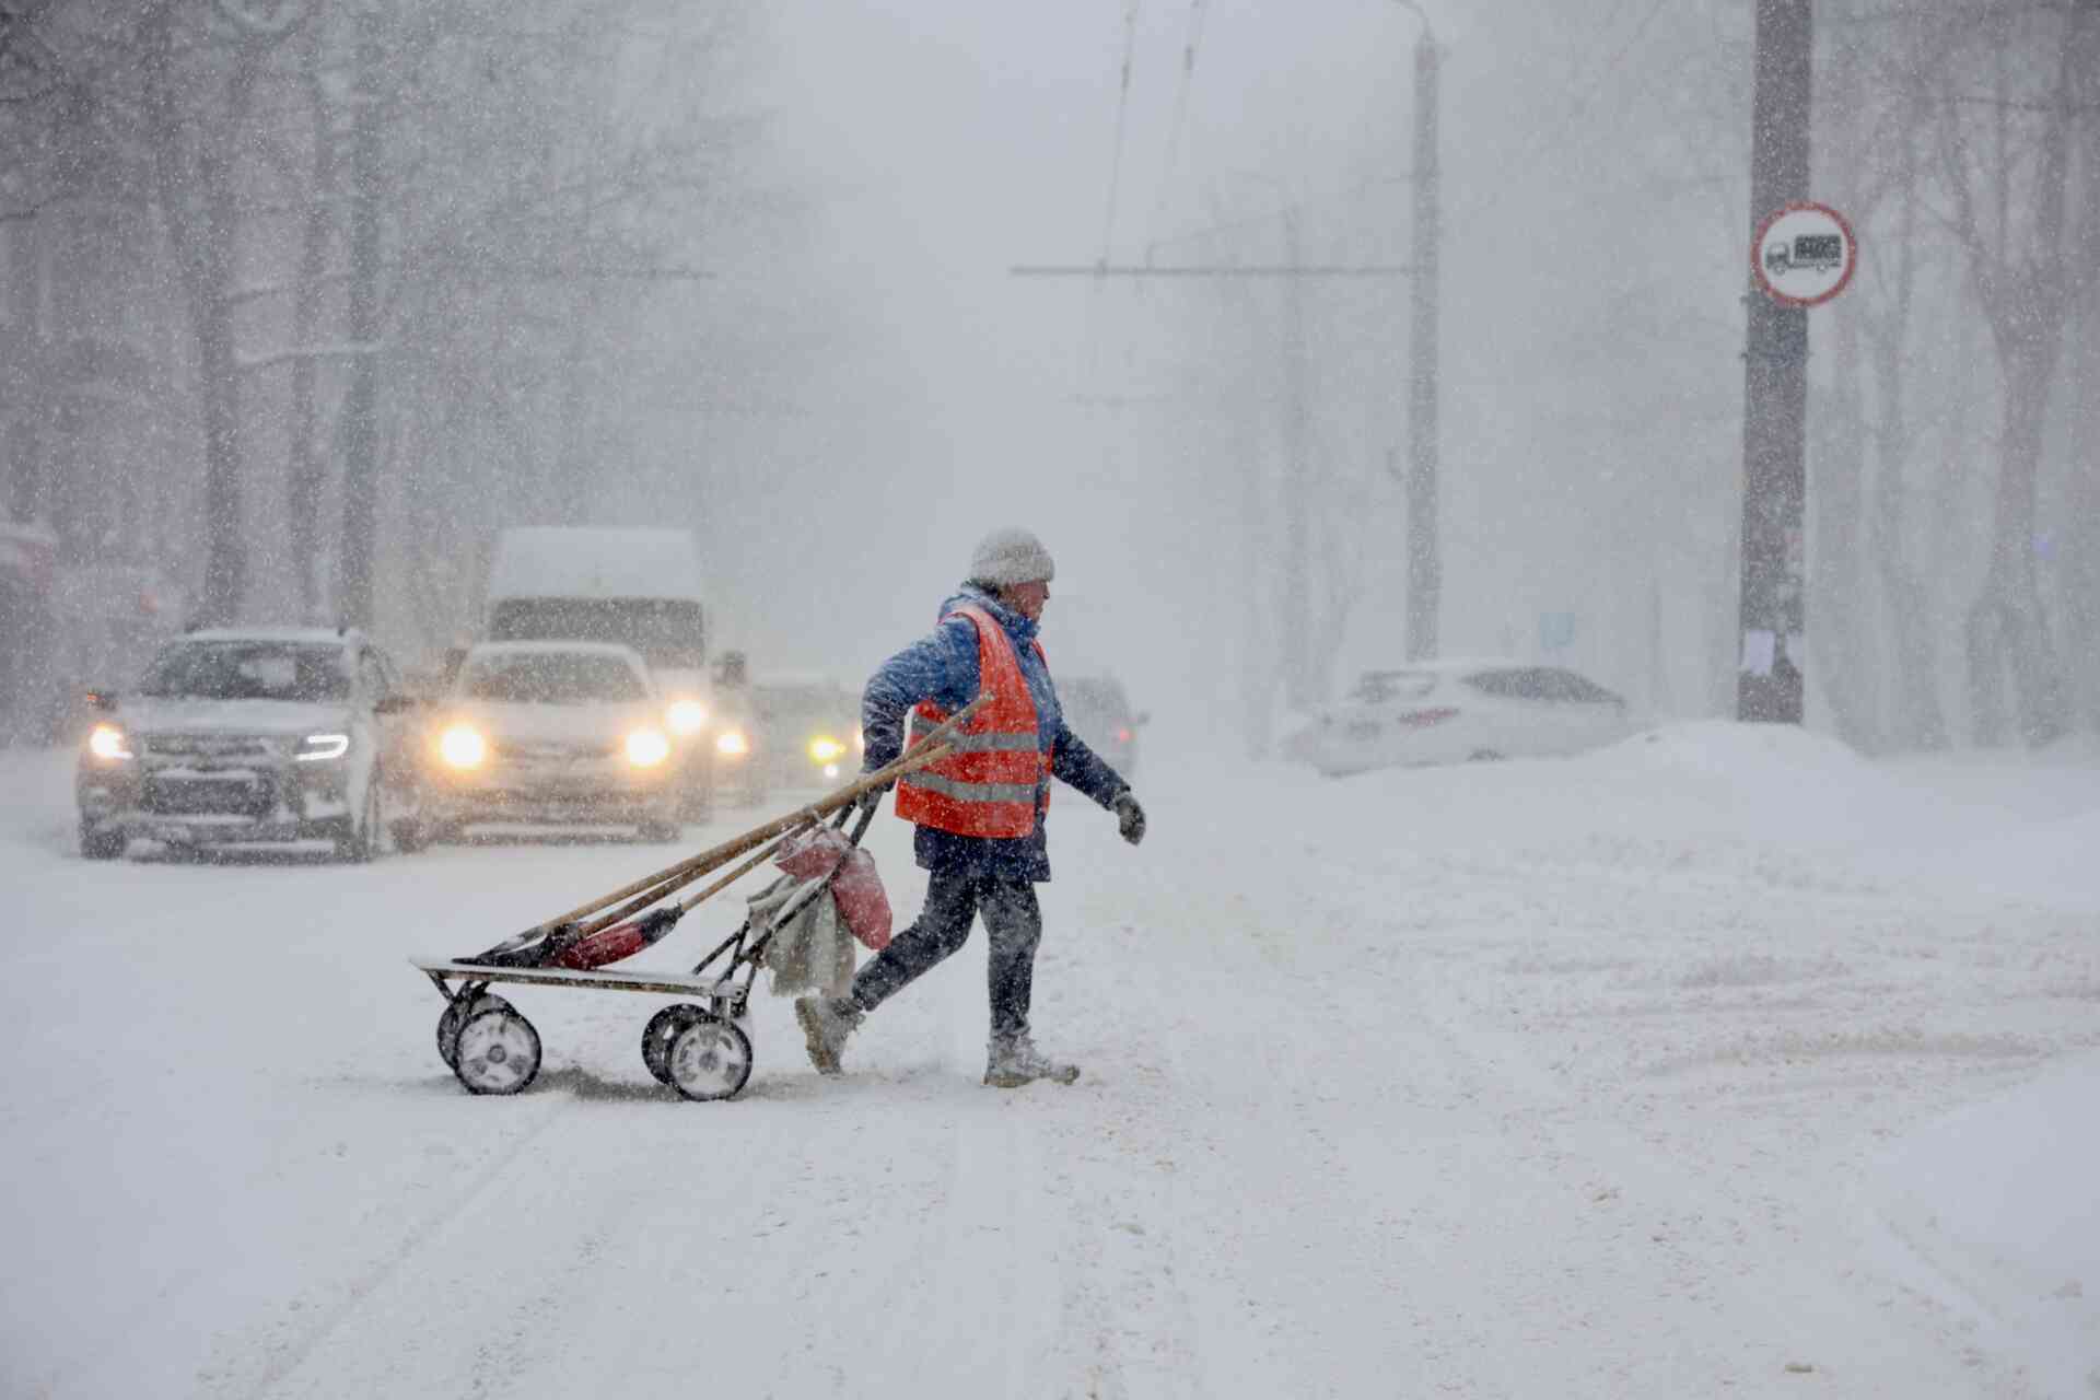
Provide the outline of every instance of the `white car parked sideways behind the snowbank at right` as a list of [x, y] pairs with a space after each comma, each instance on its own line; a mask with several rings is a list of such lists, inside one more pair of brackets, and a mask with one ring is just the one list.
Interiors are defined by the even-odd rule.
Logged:
[[1365, 672], [1285, 754], [1327, 777], [1396, 764], [1579, 754], [1632, 735], [1625, 701], [1558, 665], [1426, 661]]

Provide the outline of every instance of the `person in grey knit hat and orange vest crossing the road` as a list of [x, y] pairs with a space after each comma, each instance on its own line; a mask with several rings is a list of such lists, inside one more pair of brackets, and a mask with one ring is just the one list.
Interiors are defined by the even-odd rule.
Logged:
[[[1050, 552], [1025, 529], [995, 529], [970, 556], [970, 577], [941, 604], [934, 632], [882, 663], [861, 697], [865, 770], [979, 693], [989, 701], [958, 733], [956, 751], [897, 783], [897, 814], [918, 825], [918, 865], [930, 871], [926, 909], [853, 978], [844, 997], [804, 997], [796, 1020], [819, 1073], [840, 1073], [840, 1052], [867, 1012], [960, 949], [985, 915], [991, 1041], [985, 1083], [1016, 1089], [1035, 1079], [1071, 1083], [1079, 1066], [1052, 1060], [1029, 1037], [1029, 995], [1050, 879], [1044, 821], [1050, 779], [1063, 779], [1117, 816], [1124, 840], [1144, 840], [1144, 808], [1130, 785], [1065, 728], [1050, 663], [1035, 642]], [[869, 793], [863, 802], [880, 802]]]

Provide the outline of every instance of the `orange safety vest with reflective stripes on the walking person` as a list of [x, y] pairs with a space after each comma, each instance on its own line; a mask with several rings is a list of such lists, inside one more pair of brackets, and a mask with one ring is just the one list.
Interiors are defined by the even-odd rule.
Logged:
[[[897, 814], [956, 835], [1027, 835], [1035, 829], [1037, 793], [1050, 806], [1050, 756], [1035, 733], [1035, 697], [1006, 628], [991, 613], [964, 602], [947, 617], [968, 617], [976, 628], [976, 676], [991, 703], [951, 735], [953, 754], [897, 781]], [[1042, 642], [1035, 655], [1044, 655]], [[905, 749], [945, 718], [945, 709], [920, 701]]]

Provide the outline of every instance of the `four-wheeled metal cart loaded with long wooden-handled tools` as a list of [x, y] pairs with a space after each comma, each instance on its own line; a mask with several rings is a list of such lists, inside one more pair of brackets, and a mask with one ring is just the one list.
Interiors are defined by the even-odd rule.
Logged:
[[[945, 739], [979, 705], [983, 699], [956, 712], [888, 768], [848, 783], [813, 806], [529, 928], [485, 953], [454, 959], [412, 957], [410, 963], [430, 978], [430, 984], [445, 999], [445, 1010], [437, 1018], [439, 1058], [468, 1094], [521, 1094], [531, 1085], [540, 1073], [540, 1031], [506, 997], [489, 991], [498, 984], [674, 995], [685, 997], [685, 1001], [666, 1005], [643, 1026], [643, 1064], [659, 1083], [670, 1085], [682, 1098], [695, 1102], [735, 1098], [752, 1077], [752, 1039], [741, 1022], [773, 934], [823, 894], [859, 848], [876, 814], [874, 806], [861, 806], [861, 798], [888, 787], [905, 772], [945, 758], [951, 751]], [[559, 966], [556, 959], [584, 947], [590, 938], [613, 938], [615, 945], [601, 947], [626, 949], [615, 951], [613, 959], [655, 945], [695, 905], [764, 865], [785, 842], [815, 831], [825, 821], [844, 831], [855, 810], [861, 816], [846, 833], [844, 852], [827, 875], [800, 882], [802, 888], [766, 909], [762, 924], [758, 915], [748, 913], [733, 934], [693, 963], [691, 972]], [[741, 863], [699, 894], [682, 900], [668, 898], [704, 875], [739, 861], [739, 856]], [[781, 879], [794, 877], [783, 875]], [[617, 942], [620, 938], [626, 942]]]

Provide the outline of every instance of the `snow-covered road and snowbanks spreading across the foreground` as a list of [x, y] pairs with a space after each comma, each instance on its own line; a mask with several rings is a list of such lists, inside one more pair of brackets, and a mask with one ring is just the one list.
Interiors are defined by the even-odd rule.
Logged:
[[2096, 764], [1168, 760], [1140, 850], [1054, 814], [1079, 1085], [976, 1083], [979, 936], [838, 1081], [762, 997], [729, 1104], [542, 989], [468, 1098], [403, 961], [659, 848], [103, 867], [67, 772], [0, 756], [8, 1396], [2100, 1394]]

